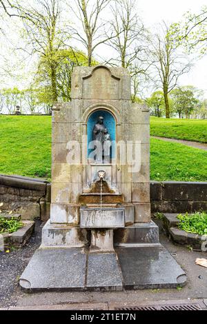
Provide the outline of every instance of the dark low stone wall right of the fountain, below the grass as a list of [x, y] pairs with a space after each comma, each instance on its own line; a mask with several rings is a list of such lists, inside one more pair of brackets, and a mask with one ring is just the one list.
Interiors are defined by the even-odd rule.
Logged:
[[206, 182], [151, 181], [152, 212], [195, 212], [207, 210]]

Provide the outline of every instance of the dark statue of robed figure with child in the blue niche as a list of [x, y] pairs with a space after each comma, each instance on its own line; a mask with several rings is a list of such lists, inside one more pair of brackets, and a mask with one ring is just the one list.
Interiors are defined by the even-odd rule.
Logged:
[[99, 116], [98, 121], [92, 130], [92, 139], [101, 144], [95, 145], [95, 149], [97, 149], [97, 162], [110, 163], [110, 134], [103, 123], [102, 116]]

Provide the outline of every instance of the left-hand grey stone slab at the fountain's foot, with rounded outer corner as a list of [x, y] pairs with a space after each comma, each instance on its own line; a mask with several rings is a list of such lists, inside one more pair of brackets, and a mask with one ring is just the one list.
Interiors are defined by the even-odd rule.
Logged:
[[20, 278], [27, 290], [83, 290], [86, 254], [78, 248], [39, 248]]

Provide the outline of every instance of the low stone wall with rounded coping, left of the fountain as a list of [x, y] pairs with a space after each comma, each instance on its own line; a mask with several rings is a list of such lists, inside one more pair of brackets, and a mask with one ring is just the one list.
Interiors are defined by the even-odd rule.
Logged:
[[17, 212], [21, 219], [47, 220], [50, 216], [50, 183], [26, 176], [0, 174], [0, 203], [1, 211]]

